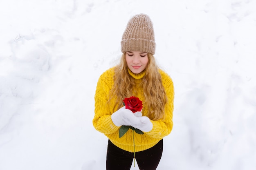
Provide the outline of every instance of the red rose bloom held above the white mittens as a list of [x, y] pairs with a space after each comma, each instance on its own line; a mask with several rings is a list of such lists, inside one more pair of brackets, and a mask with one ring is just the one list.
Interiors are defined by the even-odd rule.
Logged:
[[142, 101], [138, 97], [124, 98], [125, 108], [132, 111], [132, 113], [140, 112], [142, 107]]

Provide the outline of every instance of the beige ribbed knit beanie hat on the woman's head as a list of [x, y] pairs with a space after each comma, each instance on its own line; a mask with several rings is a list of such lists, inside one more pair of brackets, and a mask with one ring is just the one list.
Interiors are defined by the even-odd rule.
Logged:
[[121, 51], [141, 51], [155, 54], [155, 35], [153, 24], [146, 14], [133, 16], [124, 31]]

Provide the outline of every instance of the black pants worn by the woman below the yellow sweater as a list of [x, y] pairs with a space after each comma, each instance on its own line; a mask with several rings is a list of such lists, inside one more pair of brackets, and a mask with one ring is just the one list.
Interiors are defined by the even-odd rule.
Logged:
[[[147, 150], [136, 152], [135, 159], [140, 170], [155, 170], [163, 152], [163, 139]], [[134, 153], [118, 148], [108, 140], [107, 170], [130, 170]]]

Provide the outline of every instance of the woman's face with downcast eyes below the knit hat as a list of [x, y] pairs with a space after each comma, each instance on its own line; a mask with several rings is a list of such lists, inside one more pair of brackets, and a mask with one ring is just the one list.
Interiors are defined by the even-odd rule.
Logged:
[[126, 62], [132, 73], [139, 74], [148, 65], [148, 53], [141, 51], [126, 51]]

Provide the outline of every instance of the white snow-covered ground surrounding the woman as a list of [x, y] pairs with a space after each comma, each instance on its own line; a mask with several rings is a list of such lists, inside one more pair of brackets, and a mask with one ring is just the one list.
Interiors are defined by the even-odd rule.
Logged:
[[[256, 167], [256, 0], [1, 0], [0, 170], [103, 170], [92, 126], [128, 20], [150, 16], [173, 79], [159, 170]], [[132, 170], [138, 170], [137, 165]]]

